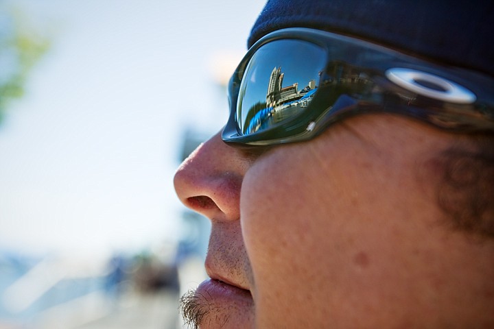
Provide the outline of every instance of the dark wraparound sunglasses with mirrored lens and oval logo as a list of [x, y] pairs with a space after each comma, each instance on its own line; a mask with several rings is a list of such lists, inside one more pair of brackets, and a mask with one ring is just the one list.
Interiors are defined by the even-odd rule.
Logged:
[[316, 29], [272, 32], [228, 84], [226, 143], [306, 141], [355, 114], [405, 115], [454, 132], [494, 131], [494, 79]]

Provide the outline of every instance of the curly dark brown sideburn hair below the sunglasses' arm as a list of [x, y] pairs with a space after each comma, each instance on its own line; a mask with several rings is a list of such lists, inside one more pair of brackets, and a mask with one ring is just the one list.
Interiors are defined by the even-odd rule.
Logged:
[[451, 219], [449, 224], [494, 239], [494, 134], [462, 138], [441, 158], [438, 202]]

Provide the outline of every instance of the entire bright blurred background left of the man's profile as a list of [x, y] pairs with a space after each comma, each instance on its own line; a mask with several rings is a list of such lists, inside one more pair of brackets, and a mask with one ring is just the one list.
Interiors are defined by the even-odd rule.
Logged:
[[0, 0], [0, 329], [176, 329], [209, 221], [178, 164], [265, 0]]

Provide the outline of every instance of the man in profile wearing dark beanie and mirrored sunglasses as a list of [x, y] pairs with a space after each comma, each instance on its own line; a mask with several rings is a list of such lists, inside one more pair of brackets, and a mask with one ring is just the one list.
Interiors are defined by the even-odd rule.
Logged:
[[494, 4], [270, 0], [176, 192], [194, 328], [494, 328]]

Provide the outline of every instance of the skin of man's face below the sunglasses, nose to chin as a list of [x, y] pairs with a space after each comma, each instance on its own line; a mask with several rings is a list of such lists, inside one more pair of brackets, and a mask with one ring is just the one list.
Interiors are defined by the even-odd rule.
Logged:
[[438, 207], [450, 144], [384, 114], [262, 153], [213, 136], [175, 178], [212, 222], [212, 280], [188, 304], [200, 328], [459, 328], [494, 314], [493, 245]]

